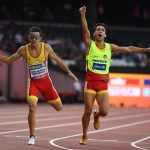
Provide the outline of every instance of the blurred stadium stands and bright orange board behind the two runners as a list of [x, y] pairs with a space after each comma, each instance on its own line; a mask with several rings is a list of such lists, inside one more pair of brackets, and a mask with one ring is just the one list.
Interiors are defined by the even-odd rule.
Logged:
[[[81, 94], [75, 101], [73, 84], [54, 61], [49, 73], [63, 103], [83, 103], [85, 47], [82, 41], [79, 8], [87, 6], [88, 26], [93, 32], [97, 22], [108, 26], [106, 42], [120, 46], [150, 47], [149, 0], [1, 0], [0, 54], [9, 56], [28, 43], [28, 30], [39, 26], [43, 42], [80, 79]], [[110, 104], [150, 107], [150, 53], [112, 54]], [[26, 102], [27, 70], [23, 59], [0, 66], [0, 102]], [[40, 102], [44, 102], [40, 95]]]

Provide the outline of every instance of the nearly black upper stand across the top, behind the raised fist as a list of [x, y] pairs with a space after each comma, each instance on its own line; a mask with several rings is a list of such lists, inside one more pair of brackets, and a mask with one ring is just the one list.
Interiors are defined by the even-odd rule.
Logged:
[[[83, 5], [88, 8], [90, 23], [101, 21], [109, 26], [138, 27], [150, 25], [149, 0], [1, 0], [0, 10], [6, 13], [0, 13], [0, 19], [77, 24], [80, 21], [78, 9]], [[133, 15], [136, 6], [140, 13], [137, 18]], [[148, 12], [147, 17], [144, 17], [144, 10]]]

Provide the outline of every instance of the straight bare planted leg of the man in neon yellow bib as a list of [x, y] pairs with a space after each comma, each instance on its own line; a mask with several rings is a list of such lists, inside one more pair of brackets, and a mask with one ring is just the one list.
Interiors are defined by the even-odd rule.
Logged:
[[93, 93], [84, 93], [84, 114], [82, 116], [82, 128], [83, 128], [83, 137], [87, 136], [87, 130], [90, 122], [90, 116], [92, 114], [93, 103], [95, 100], [95, 94]]

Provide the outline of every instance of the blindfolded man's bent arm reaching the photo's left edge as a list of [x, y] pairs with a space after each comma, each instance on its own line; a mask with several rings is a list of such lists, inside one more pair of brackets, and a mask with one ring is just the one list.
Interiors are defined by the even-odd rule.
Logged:
[[0, 61], [2, 61], [3, 63], [6, 63], [6, 64], [10, 64], [23, 56], [22, 53], [23, 53], [24, 49], [25, 48], [23, 46], [20, 47], [16, 53], [14, 53], [13, 55], [11, 55], [9, 57], [0, 55]]

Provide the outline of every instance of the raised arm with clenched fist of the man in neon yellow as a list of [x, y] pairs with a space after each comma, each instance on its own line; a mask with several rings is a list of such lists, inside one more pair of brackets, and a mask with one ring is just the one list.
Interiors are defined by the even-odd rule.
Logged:
[[79, 9], [80, 16], [81, 16], [81, 27], [83, 32], [83, 41], [86, 46], [86, 54], [88, 54], [89, 46], [91, 45], [91, 38], [90, 38], [90, 31], [88, 29], [88, 24], [86, 21], [86, 7], [83, 6]]

